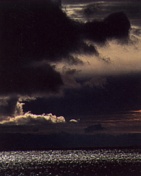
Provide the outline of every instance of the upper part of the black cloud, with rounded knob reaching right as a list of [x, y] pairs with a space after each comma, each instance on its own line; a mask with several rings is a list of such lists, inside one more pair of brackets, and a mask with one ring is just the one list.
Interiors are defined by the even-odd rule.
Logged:
[[[2, 1], [0, 6], [1, 63], [26, 64], [31, 60], [60, 60], [71, 52], [95, 53], [83, 35], [116, 37], [127, 35], [130, 24], [123, 13], [85, 25], [70, 20], [50, 1]], [[101, 28], [102, 25], [102, 28]], [[102, 30], [102, 31], [101, 31]], [[117, 34], [118, 33], [118, 34]], [[94, 37], [94, 38], [95, 38]]]

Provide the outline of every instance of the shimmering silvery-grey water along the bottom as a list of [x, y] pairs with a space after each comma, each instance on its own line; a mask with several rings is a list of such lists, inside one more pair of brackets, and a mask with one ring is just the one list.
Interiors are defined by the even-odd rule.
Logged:
[[141, 150], [0, 152], [1, 176], [141, 175]]

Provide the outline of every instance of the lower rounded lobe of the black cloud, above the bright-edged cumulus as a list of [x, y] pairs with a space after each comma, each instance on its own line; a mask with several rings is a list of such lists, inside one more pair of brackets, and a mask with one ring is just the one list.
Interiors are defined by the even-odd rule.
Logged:
[[60, 74], [50, 65], [45, 67], [12, 67], [7, 65], [0, 74], [0, 94], [39, 96], [57, 92], [62, 85]]

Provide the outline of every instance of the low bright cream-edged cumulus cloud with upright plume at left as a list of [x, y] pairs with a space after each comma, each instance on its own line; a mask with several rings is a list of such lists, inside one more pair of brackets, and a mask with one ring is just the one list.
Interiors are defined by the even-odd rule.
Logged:
[[[20, 99], [19, 99], [20, 100]], [[0, 124], [2, 125], [41, 125], [45, 123], [65, 123], [66, 120], [63, 116], [56, 116], [52, 113], [36, 115], [30, 112], [24, 113], [23, 106], [24, 103], [19, 100], [13, 99], [15, 103], [12, 102], [12, 107], [10, 111], [6, 111], [6, 117], [1, 118]], [[9, 100], [11, 102], [11, 98]], [[10, 103], [7, 100], [7, 103]], [[11, 107], [9, 105], [8, 107]], [[10, 116], [12, 114], [12, 116]], [[7, 117], [7, 115], [9, 115]]]

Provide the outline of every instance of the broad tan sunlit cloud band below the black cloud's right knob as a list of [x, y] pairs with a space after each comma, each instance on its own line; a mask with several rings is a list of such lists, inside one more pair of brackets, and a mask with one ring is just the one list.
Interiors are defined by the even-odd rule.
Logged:
[[[60, 62], [56, 68], [63, 72], [76, 70], [75, 77], [85, 79], [97, 76], [112, 76], [141, 72], [141, 39], [131, 35], [129, 43], [109, 40], [106, 45], [96, 45], [99, 55], [80, 55], [83, 64], [67, 65]], [[61, 70], [62, 69], [62, 70]], [[79, 72], [78, 72], [79, 71]]]

